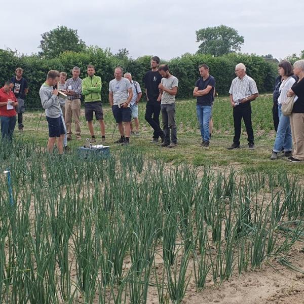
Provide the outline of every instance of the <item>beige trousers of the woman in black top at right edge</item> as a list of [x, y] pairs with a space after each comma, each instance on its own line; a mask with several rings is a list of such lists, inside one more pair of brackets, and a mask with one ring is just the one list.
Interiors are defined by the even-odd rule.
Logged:
[[292, 157], [304, 161], [304, 113], [290, 116], [293, 152]]

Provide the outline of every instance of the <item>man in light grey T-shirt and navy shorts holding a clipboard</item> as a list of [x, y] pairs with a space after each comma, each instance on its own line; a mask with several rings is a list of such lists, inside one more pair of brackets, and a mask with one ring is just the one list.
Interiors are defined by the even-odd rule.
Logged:
[[123, 69], [118, 66], [114, 72], [115, 79], [111, 80], [109, 83], [109, 103], [112, 107], [113, 116], [118, 123], [118, 129], [121, 134], [121, 138], [117, 140], [116, 143], [128, 145], [131, 132], [130, 102], [133, 97], [133, 92], [130, 81], [122, 77], [122, 75]]

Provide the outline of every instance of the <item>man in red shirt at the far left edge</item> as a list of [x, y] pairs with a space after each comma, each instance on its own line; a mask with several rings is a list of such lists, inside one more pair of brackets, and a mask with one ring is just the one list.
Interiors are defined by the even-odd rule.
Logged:
[[0, 124], [2, 139], [12, 141], [14, 129], [16, 126], [16, 107], [18, 102], [12, 92], [14, 84], [7, 81], [0, 89]]

